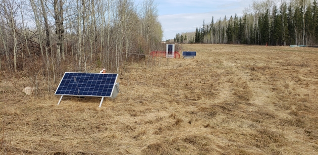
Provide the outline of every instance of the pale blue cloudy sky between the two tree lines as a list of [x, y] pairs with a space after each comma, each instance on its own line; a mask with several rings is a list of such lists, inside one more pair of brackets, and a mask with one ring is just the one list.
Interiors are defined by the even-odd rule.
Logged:
[[[135, 0], [141, 3], [142, 0]], [[161, 0], [154, 1], [158, 9], [158, 19], [164, 31], [163, 40], [173, 39], [177, 33], [193, 32], [196, 27], [210, 23], [212, 16], [216, 22], [218, 19], [231, 16], [242, 16], [245, 8], [252, 5], [252, 0]]]

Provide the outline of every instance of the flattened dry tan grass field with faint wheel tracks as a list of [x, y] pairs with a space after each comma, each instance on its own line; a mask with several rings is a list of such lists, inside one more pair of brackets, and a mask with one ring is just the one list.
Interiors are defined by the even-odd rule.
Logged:
[[317, 48], [180, 46], [197, 57], [130, 64], [101, 108], [1, 75], [0, 154], [318, 154]]

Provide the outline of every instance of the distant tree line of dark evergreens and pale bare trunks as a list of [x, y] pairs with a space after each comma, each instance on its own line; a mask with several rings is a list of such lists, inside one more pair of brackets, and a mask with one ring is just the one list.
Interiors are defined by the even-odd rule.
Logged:
[[203, 21], [194, 33], [183, 35], [186, 34], [191, 35], [186, 40], [189, 43], [317, 45], [317, 3], [316, 0], [254, 1], [242, 17], [235, 14], [216, 22], [212, 17], [209, 24]]

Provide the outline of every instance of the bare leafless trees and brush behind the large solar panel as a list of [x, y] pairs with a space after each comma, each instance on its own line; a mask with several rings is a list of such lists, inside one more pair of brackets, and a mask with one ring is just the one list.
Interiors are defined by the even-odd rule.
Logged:
[[125, 71], [162, 37], [154, 0], [0, 0], [0, 72], [44, 75], [49, 89], [66, 71]]

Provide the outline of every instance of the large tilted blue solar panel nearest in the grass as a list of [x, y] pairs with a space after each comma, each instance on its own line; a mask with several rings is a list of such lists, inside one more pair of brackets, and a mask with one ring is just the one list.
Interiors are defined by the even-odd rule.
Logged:
[[111, 97], [118, 74], [66, 72], [56, 95]]

